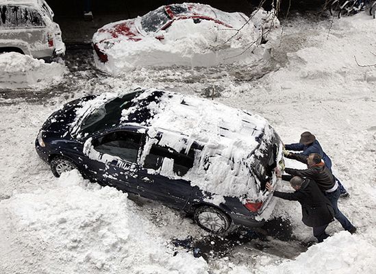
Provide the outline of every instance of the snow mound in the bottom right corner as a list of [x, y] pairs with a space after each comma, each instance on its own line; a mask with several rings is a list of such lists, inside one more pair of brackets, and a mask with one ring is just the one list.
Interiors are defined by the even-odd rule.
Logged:
[[375, 273], [376, 247], [362, 236], [339, 232], [319, 245], [313, 245], [295, 260], [266, 266], [260, 273]]

